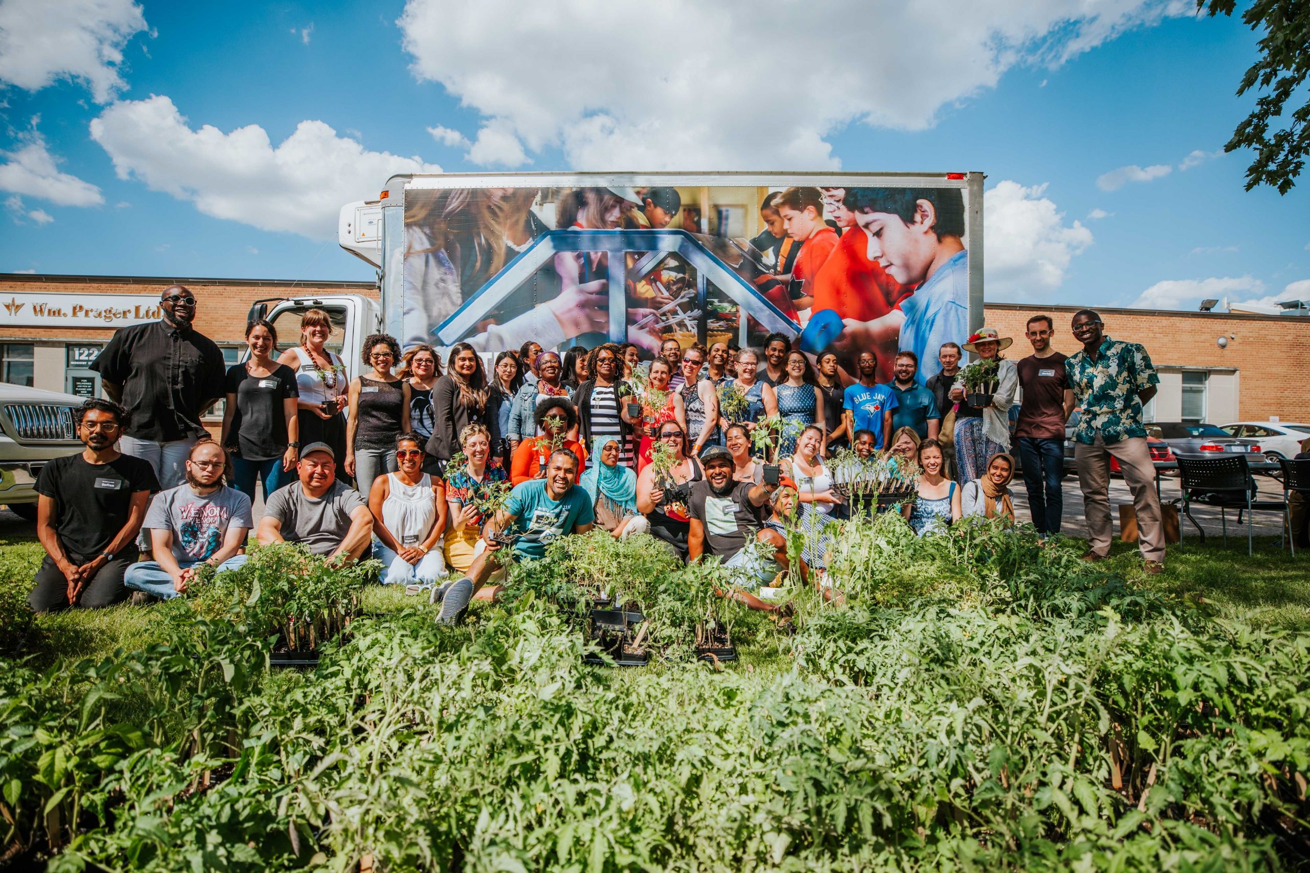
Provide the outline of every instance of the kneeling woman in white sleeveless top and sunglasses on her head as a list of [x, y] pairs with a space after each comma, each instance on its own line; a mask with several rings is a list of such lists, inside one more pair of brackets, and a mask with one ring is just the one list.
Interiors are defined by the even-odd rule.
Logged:
[[383, 585], [405, 585], [417, 594], [445, 577], [441, 536], [445, 532], [445, 489], [423, 472], [423, 438], [396, 438], [396, 472], [373, 480], [368, 510], [373, 514], [373, 557], [386, 565]]

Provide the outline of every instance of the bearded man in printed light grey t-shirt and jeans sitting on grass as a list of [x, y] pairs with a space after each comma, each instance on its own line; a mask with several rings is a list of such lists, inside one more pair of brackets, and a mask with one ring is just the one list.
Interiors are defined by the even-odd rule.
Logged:
[[123, 585], [135, 591], [132, 603], [176, 598], [202, 564], [220, 570], [245, 564], [241, 551], [254, 527], [250, 498], [223, 484], [227, 464], [223, 446], [199, 442], [186, 459], [186, 482], [155, 495], [141, 524], [155, 560], [134, 564], [123, 575]]

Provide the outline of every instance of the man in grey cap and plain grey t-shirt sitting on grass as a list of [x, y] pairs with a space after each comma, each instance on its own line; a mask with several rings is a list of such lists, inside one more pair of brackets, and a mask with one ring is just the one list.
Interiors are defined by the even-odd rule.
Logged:
[[331, 447], [305, 446], [296, 471], [300, 481], [279, 488], [265, 502], [259, 543], [304, 543], [314, 554], [356, 560], [372, 537], [373, 514], [359, 492], [337, 481]]

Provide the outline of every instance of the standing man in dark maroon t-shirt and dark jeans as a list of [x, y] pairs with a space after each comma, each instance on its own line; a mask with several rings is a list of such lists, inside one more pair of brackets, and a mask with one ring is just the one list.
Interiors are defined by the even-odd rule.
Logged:
[[1051, 316], [1028, 319], [1032, 354], [1017, 362], [1023, 404], [1014, 427], [1015, 448], [1028, 489], [1028, 513], [1040, 536], [1060, 532], [1064, 514], [1064, 423], [1073, 412], [1073, 389], [1065, 372], [1065, 355], [1051, 347], [1055, 322]]

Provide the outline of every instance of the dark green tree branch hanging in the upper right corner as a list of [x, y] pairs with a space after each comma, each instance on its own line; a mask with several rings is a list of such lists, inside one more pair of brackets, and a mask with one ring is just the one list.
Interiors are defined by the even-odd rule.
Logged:
[[[1237, 1], [1196, 0], [1196, 8], [1207, 9], [1210, 16], [1231, 16]], [[1269, 185], [1286, 194], [1310, 152], [1310, 101], [1305, 98], [1310, 76], [1310, 5], [1303, 0], [1254, 0], [1242, 13], [1242, 21], [1264, 35], [1259, 42], [1260, 58], [1242, 76], [1237, 93], [1252, 88], [1265, 93], [1233, 131], [1224, 151], [1255, 152], [1246, 170], [1246, 190]], [[1302, 102], [1288, 113], [1288, 101], [1296, 97]], [[1271, 127], [1275, 127], [1272, 134]]]

